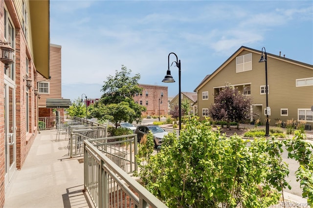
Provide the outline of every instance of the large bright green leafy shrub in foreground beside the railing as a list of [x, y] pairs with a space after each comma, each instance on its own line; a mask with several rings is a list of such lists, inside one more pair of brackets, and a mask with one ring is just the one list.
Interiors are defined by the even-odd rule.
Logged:
[[247, 146], [197, 119], [186, 121], [185, 129], [179, 138], [165, 136], [157, 154], [141, 154], [149, 161], [139, 160], [134, 173], [169, 208], [267, 208], [277, 204], [278, 191], [290, 188], [280, 141], [255, 139]]

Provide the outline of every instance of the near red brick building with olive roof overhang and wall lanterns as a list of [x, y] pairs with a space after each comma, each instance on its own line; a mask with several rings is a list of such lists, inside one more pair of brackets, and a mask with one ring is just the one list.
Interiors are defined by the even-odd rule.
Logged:
[[38, 132], [37, 76], [50, 76], [49, 0], [0, 0], [0, 50], [2, 208]]

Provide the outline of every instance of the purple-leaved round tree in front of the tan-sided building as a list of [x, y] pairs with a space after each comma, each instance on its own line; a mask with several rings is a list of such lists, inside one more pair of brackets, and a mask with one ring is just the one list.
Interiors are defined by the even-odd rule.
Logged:
[[209, 108], [209, 116], [215, 121], [237, 122], [250, 118], [251, 98], [239, 92], [238, 88], [226, 84], [215, 103]]

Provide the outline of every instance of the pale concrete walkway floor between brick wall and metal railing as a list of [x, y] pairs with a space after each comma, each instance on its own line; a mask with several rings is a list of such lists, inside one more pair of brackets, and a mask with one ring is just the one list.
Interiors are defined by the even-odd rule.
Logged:
[[[56, 130], [37, 135], [21, 170], [5, 190], [4, 208], [89, 208], [83, 157], [69, 158], [68, 136]], [[83, 155], [83, 154], [82, 154]]]

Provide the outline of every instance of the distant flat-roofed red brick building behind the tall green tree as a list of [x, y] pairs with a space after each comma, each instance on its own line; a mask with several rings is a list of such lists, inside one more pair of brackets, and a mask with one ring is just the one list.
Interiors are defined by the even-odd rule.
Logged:
[[134, 101], [147, 108], [147, 111], [143, 112], [143, 115], [158, 116], [160, 112], [160, 116], [166, 116], [168, 113], [167, 86], [152, 84], [138, 84], [138, 86], [143, 88], [143, 90], [141, 94], [134, 96]]

